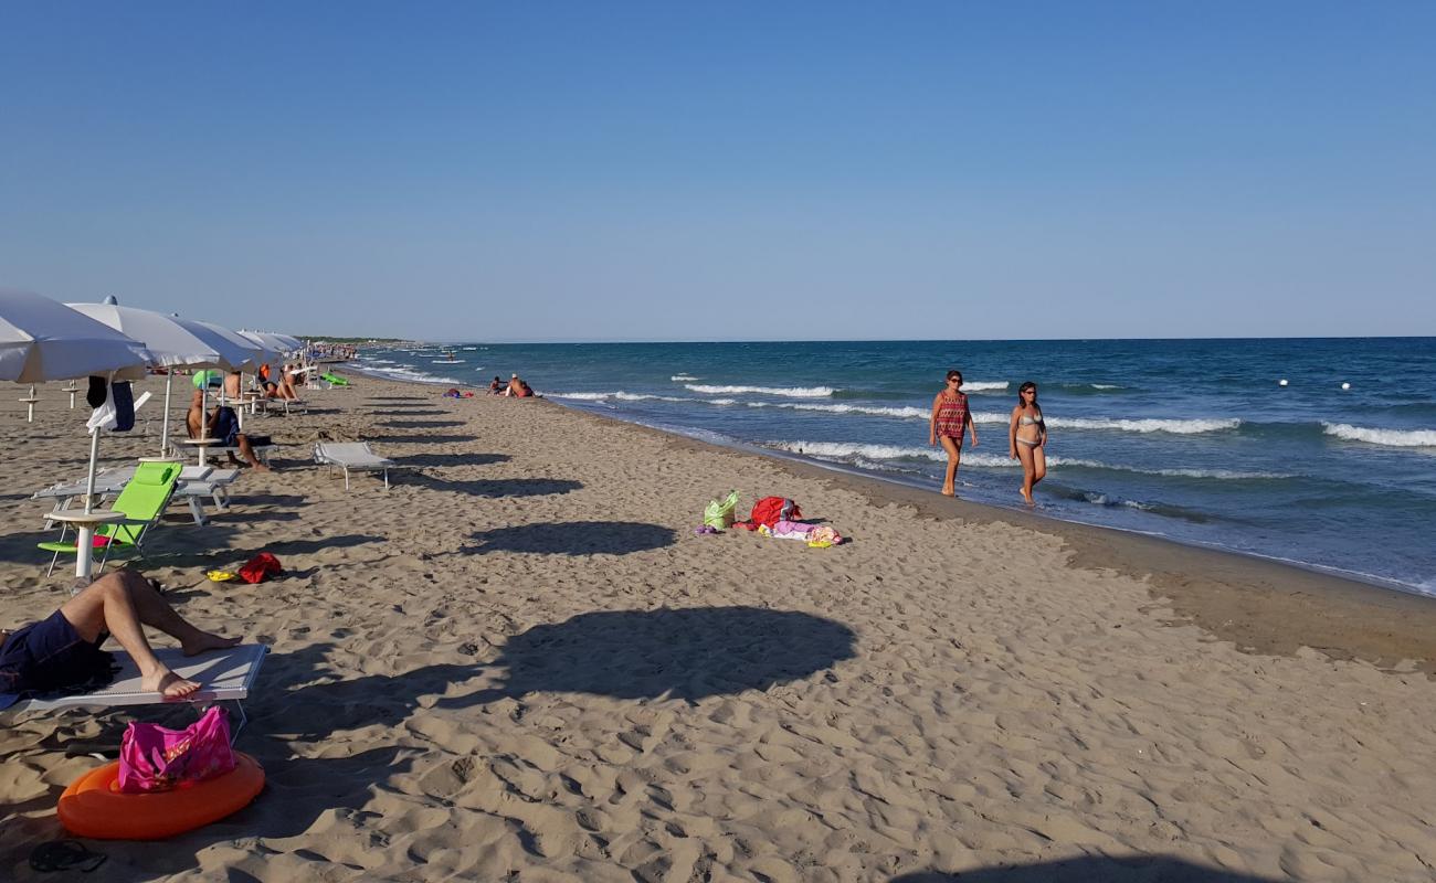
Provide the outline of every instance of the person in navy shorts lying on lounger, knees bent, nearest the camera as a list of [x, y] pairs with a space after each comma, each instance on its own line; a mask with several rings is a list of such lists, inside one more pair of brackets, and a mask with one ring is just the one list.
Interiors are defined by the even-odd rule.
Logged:
[[155, 658], [141, 625], [177, 639], [185, 656], [240, 643], [238, 637], [201, 632], [175, 613], [145, 577], [116, 570], [47, 619], [13, 633], [0, 629], [0, 708], [26, 693], [79, 693], [109, 683], [113, 662], [99, 646], [111, 636], [139, 666], [144, 689], [165, 699], [184, 699], [200, 689]]

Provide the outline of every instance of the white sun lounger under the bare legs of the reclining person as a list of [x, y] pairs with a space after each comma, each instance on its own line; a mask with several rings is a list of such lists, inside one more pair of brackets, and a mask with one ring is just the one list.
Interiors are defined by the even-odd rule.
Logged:
[[[215, 702], [233, 702], [234, 719], [231, 719], [230, 735], [238, 737], [244, 727], [244, 699], [250, 695], [250, 686], [260, 673], [264, 655], [269, 652], [261, 643], [246, 643], [224, 650], [210, 650], [198, 656], [185, 656], [178, 648], [155, 650], [159, 662], [188, 681], [195, 681], [201, 686], [190, 693], [180, 704], [213, 705]], [[119, 663], [119, 673], [109, 686], [89, 693], [73, 696], [55, 696], [45, 699], [22, 699], [3, 714], [62, 711], [66, 708], [115, 708], [121, 705], [175, 705], [175, 699], [165, 699], [159, 693], [139, 689], [139, 669], [129, 653], [116, 652], [115, 660]]]

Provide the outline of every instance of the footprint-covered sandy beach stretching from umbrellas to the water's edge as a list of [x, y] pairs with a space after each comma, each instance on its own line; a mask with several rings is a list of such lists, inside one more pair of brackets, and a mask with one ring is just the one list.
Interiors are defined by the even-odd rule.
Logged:
[[[257, 425], [280, 471], [154, 534], [185, 616], [273, 645], [240, 738], [269, 785], [90, 841], [92, 879], [1432, 879], [1436, 603], [437, 393], [312, 392]], [[0, 625], [67, 586], [27, 497], [82, 472], [82, 411], [42, 396], [0, 421]], [[320, 431], [411, 469], [345, 492]], [[853, 543], [694, 536], [728, 488]], [[204, 580], [260, 550], [283, 579]], [[26, 859], [98, 762], [67, 752], [125, 721], [3, 721], [0, 877], [56, 879]]]

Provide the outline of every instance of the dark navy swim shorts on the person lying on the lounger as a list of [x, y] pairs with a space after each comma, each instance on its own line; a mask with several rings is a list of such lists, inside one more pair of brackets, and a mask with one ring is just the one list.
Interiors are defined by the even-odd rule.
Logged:
[[30, 693], [79, 693], [103, 686], [115, 676], [115, 659], [79, 636], [56, 610], [29, 625], [0, 646], [0, 708]]

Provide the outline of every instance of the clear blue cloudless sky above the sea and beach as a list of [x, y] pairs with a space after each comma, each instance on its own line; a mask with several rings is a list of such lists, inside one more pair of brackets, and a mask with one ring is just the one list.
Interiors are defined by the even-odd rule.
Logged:
[[1429, 0], [0, 0], [0, 284], [426, 339], [1433, 335], [1433, 47]]

